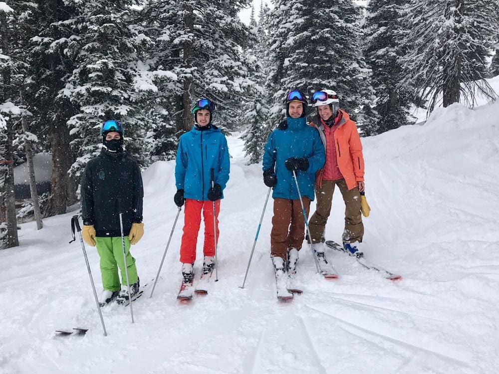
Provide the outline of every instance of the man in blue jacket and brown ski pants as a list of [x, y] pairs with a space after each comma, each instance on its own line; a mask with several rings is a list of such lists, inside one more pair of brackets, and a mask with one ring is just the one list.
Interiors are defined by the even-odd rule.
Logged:
[[306, 105], [302, 92], [289, 92], [286, 97], [287, 118], [272, 131], [263, 154], [263, 182], [267, 187], [273, 187], [270, 256], [278, 286], [286, 271], [296, 271], [298, 251], [305, 235], [305, 221], [293, 171], [308, 215], [310, 201], [314, 199], [315, 172], [325, 161], [319, 133], [306, 123]]

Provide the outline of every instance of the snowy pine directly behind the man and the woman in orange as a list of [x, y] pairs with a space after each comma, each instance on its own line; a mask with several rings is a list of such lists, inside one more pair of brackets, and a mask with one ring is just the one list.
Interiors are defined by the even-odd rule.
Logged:
[[340, 107], [359, 125], [371, 121], [363, 111], [374, 92], [361, 53], [358, 6], [351, 0], [278, 0], [270, 15], [272, 71], [266, 88], [275, 92], [272, 115], [282, 108], [286, 91], [297, 88], [309, 96], [327, 88], [338, 93]]

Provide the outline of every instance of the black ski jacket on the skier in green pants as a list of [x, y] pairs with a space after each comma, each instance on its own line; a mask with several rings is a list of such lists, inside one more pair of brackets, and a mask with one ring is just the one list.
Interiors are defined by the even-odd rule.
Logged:
[[81, 212], [84, 225], [94, 225], [96, 236], [121, 236], [118, 199], [123, 235], [132, 223], [142, 222], [144, 188], [139, 165], [127, 152], [110, 156], [105, 150], [90, 160], [81, 180]]

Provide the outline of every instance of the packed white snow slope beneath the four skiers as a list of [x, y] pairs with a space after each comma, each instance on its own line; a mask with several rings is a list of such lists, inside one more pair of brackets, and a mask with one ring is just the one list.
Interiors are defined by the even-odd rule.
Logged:
[[[247, 166], [243, 143], [229, 137], [231, 179], [220, 214], [219, 282], [191, 304], [181, 282], [183, 211], [154, 296], [153, 278], [178, 209], [174, 162], [143, 173], [145, 235], [132, 247], [144, 295], [130, 311], [102, 309], [104, 337], [81, 245], [71, 244], [72, 213], [22, 224], [21, 246], [0, 251], [0, 372], [68, 373], [497, 373], [499, 363], [499, 103], [437, 109], [425, 125], [364, 138], [363, 249], [403, 275], [391, 282], [342, 253], [339, 272], [315, 272], [306, 242], [301, 296], [276, 300], [269, 259], [270, 199], [250, 257], [267, 188], [261, 165]], [[117, 191], [119, 193], [119, 191]], [[312, 204], [314, 211], [314, 204]], [[344, 205], [337, 192], [326, 236], [340, 240]], [[203, 232], [203, 228], [201, 229]], [[202, 235], [195, 270], [202, 264]], [[98, 255], [87, 247], [100, 292]], [[86, 336], [54, 330], [85, 327]]]

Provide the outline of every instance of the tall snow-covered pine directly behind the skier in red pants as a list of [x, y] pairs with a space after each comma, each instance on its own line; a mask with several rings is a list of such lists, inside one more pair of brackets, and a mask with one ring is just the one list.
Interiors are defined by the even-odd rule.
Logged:
[[[149, 1], [145, 11], [158, 28], [150, 59], [156, 63], [160, 92], [175, 116], [179, 132], [191, 129], [191, 104], [206, 97], [215, 102], [214, 123], [234, 127], [252, 85], [243, 48], [252, 41], [238, 12], [248, 0]], [[152, 26], [151, 26], [152, 27]]]

